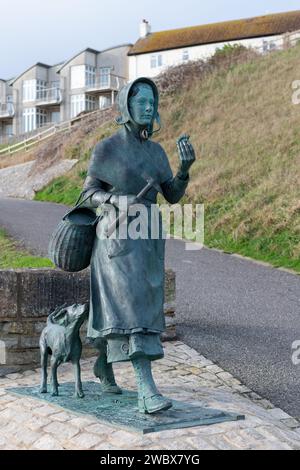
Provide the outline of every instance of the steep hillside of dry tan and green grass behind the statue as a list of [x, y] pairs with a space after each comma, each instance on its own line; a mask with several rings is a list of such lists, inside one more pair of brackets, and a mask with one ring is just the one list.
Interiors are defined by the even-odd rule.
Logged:
[[[300, 46], [254, 58], [165, 96], [159, 141], [175, 170], [175, 139], [191, 135], [197, 162], [182, 202], [205, 203], [207, 246], [300, 272], [300, 106], [291, 88], [299, 58]], [[89, 145], [114, 129], [99, 129]], [[72, 204], [90, 148], [83, 140], [79, 165], [37, 199]]]

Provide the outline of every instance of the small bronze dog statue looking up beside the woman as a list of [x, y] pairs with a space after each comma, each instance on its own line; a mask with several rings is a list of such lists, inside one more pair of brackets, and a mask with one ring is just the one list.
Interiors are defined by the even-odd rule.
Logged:
[[75, 396], [83, 398], [80, 357], [82, 343], [79, 330], [88, 317], [89, 304], [58, 307], [47, 319], [40, 337], [42, 381], [41, 393], [47, 393], [47, 362], [51, 355], [51, 394], [58, 396], [57, 368], [63, 362], [72, 362], [75, 372]]

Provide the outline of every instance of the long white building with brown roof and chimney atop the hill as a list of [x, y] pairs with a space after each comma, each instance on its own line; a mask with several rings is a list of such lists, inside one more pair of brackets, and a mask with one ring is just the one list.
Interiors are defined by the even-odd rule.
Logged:
[[156, 33], [152, 33], [150, 24], [143, 20], [140, 38], [128, 53], [129, 78], [155, 77], [170, 66], [205, 60], [225, 44], [242, 44], [260, 52], [280, 49], [287, 34], [299, 30], [300, 11]]

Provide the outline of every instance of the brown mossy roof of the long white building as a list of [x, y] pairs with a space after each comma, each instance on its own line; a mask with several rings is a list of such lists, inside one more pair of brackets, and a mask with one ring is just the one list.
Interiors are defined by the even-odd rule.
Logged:
[[128, 55], [273, 36], [296, 30], [300, 30], [300, 10], [150, 33], [140, 38]]

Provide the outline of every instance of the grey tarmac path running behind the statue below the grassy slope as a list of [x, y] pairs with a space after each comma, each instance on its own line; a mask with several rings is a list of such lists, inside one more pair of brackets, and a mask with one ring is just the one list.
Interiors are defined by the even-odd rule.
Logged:
[[[0, 227], [47, 255], [59, 204], [0, 199]], [[300, 276], [215, 250], [168, 240], [166, 266], [177, 276], [178, 336], [274, 405], [300, 418]]]

